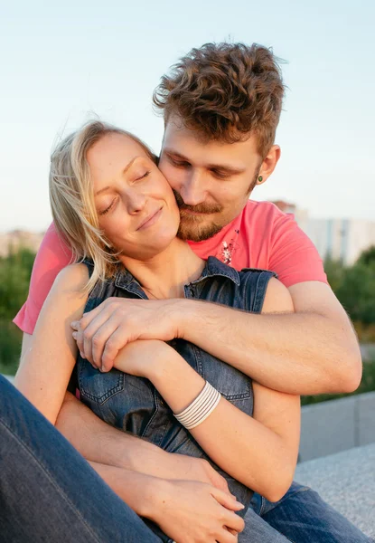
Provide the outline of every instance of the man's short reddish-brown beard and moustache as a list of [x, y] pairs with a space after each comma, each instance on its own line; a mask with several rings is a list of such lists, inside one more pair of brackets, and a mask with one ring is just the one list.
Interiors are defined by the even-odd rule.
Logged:
[[[256, 175], [253, 177], [250, 186], [248, 187], [248, 196], [251, 194], [254, 186], [257, 185], [258, 181], [258, 170]], [[198, 204], [198, 205], [187, 205], [183, 202], [183, 197], [176, 190], [173, 189], [173, 194], [176, 199], [177, 205], [180, 209], [180, 225], [177, 232], [177, 237], [181, 240], [186, 241], [190, 240], [191, 242], [203, 242], [213, 237], [216, 233], [219, 233], [224, 226], [227, 224], [218, 224], [218, 223], [209, 223], [201, 224], [202, 217], [200, 215], [190, 214], [188, 211], [193, 211], [195, 213], [205, 214], [205, 217], [210, 214], [220, 214], [223, 210], [223, 206], [216, 204]]]

